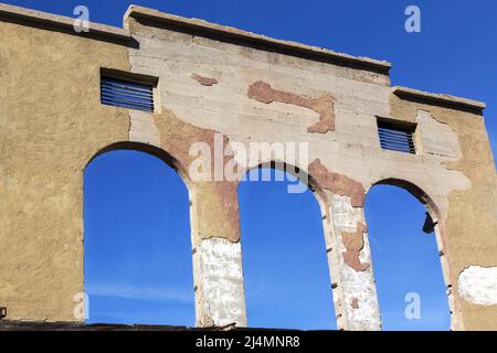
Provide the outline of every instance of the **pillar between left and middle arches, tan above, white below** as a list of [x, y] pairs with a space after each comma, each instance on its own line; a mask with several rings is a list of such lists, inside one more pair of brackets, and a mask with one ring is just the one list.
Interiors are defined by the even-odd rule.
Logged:
[[197, 327], [246, 327], [236, 185], [193, 185], [191, 223]]

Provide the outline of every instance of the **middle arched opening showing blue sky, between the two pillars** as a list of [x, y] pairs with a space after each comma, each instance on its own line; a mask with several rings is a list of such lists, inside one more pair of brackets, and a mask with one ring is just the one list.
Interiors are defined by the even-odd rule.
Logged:
[[[240, 183], [239, 202], [248, 325], [336, 329], [319, 204], [308, 189], [288, 193], [295, 178]], [[281, 181], [283, 180], [284, 181]]]

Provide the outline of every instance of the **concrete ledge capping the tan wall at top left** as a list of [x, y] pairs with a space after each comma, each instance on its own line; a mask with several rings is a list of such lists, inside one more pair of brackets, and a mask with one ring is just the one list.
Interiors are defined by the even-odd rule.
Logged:
[[[52, 14], [52, 13], [47, 13], [47, 12], [13, 7], [13, 6], [6, 4], [6, 3], [0, 3], [0, 15], [11, 17], [11, 18], [15, 18], [15, 19], [22, 19], [25, 21], [33, 21], [33, 22], [49, 24], [49, 25], [59, 26], [59, 28], [63, 28], [63, 29], [73, 29], [74, 20], [75, 20], [74, 18], [56, 15], [56, 14]], [[0, 18], [0, 21], [1, 21], [1, 18]], [[76, 32], [74, 32], [74, 33], [78, 34]], [[131, 36], [129, 35], [129, 32], [124, 29], [91, 22], [89, 23], [89, 33], [83, 32], [81, 34], [87, 35], [87, 34], [92, 34], [92, 33], [99, 34], [103, 36], [109, 36], [109, 38], [118, 39], [118, 40], [126, 40], [126, 41], [131, 39]]]

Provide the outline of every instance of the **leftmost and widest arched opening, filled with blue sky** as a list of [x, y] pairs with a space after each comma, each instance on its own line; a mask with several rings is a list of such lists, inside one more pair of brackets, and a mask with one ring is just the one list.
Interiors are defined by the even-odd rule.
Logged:
[[188, 190], [161, 159], [97, 156], [84, 175], [87, 323], [194, 324]]

